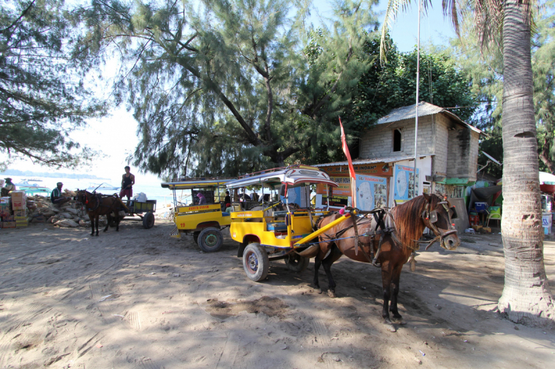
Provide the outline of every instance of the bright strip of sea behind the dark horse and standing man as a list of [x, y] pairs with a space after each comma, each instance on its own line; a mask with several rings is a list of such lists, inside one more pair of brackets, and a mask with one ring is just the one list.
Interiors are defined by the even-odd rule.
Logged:
[[[62, 182], [64, 183], [62, 190], [67, 188], [68, 190], [71, 190], [71, 191], [75, 191], [78, 189], [80, 190], [87, 189], [90, 186], [96, 187], [104, 183], [105, 185], [114, 186], [114, 187], [117, 187], [118, 189], [111, 190], [111, 191], [108, 190], [108, 191], [97, 191], [97, 192], [102, 192], [104, 195], [111, 195], [115, 192], [119, 193], [119, 188], [121, 186], [121, 183], [115, 183], [113, 181], [109, 182], [104, 179], [75, 179], [75, 178], [57, 179], [57, 178], [51, 178], [51, 177], [19, 177], [14, 175], [10, 175], [10, 176], [6, 175], [6, 176], [3, 176], [2, 178], [4, 177], [11, 177], [12, 182], [15, 183], [15, 186], [17, 186], [18, 189], [19, 189], [19, 184], [21, 184], [24, 181], [28, 181], [28, 183], [31, 185], [36, 184], [37, 186], [49, 188], [50, 190], [53, 190], [54, 188], [56, 188], [56, 183]], [[136, 177], [137, 183], [135, 184], [135, 186], [133, 186], [133, 196], [138, 195], [140, 192], [144, 192], [148, 200], [156, 200], [157, 208], [163, 208], [169, 205], [173, 206], [173, 192], [167, 188], [162, 188], [161, 180], [157, 181], [152, 178], [148, 178], [148, 179], [142, 178], [140, 174], [135, 174], [135, 177]], [[187, 199], [190, 198], [190, 195], [186, 193], [178, 194], [178, 195], [183, 196], [182, 202], [187, 202]]]

